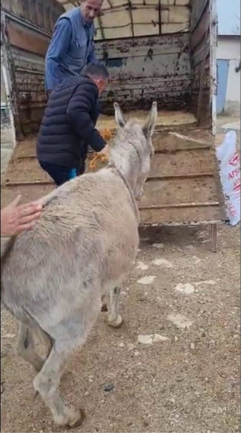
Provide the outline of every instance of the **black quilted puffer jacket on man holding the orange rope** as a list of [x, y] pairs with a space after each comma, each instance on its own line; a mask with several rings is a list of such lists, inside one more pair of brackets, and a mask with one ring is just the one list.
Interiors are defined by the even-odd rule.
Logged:
[[87, 145], [96, 152], [106, 142], [95, 129], [98, 89], [87, 76], [59, 84], [48, 99], [37, 140], [39, 161], [79, 168]]

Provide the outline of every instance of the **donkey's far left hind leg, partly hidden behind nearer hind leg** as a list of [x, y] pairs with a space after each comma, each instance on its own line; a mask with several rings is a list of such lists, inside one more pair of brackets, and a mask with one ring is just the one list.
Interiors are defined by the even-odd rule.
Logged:
[[[34, 330], [31, 326], [20, 322], [19, 336], [17, 342], [17, 353], [22, 358], [32, 364], [36, 372], [40, 372], [42, 366], [45, 363], [45, 359], [40, 358], [39, 355], [34, 351]], [[45, 339], [47, 337], [45, 336]]]

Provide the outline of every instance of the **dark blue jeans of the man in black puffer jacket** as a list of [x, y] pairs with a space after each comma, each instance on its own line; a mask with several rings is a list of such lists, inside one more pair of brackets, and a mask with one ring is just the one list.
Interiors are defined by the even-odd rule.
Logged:
[[62, 165], [55, 165], [44, 161], [39, 161], [39, 164], [43, 170], [47, 171], [57, 186], [60, 186], [65, 182], [76, 178], [76, 176], [83, 174], [85, 168], [82, 165], [80, 170], [77, 170], [77, 168], [64, 167]]

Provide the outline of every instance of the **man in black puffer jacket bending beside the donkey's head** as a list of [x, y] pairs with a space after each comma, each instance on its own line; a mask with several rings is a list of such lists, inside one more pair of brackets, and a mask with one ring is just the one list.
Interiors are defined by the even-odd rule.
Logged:
[[108, 145], [95, 128], [98, 99], [108, 77], [105, 66], [89, 64], [80, 76], [67, 78], [50, 94], [37, 156], [56, 185], [84, 173], [88, 144], [95, 152], [108, 153]]

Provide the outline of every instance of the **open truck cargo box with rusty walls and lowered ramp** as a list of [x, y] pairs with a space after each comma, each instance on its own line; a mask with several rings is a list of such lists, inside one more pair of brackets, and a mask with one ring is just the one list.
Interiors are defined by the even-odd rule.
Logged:
[[[104, 0], [103, 14], [96, 20], [96, 55], [110, 72], [97, 127], [109, 127], [115, 133], [114, 100], [125, 112], [137, 110], [141, 120], [152, 101], [158, 103], [155, 155], [139, 203], [141, 224], [209, 223], [214, 241], [215, 224], [226, 219], [212, 136], [216, 115], [215, 3], [130, 1], [112, 7]], [[25, 0], [2, 2], [5, 75], [16, 135], [23, 140], [6, 172], [3, 202], [14, 191], [21, 191], [27, 200], [54, 187], [38, 166], [34, 136], [47, 102], [45, 52], [63, 5], [71, 8], [74, 1], [31, 2], [29, 10], [24, 5]]]

